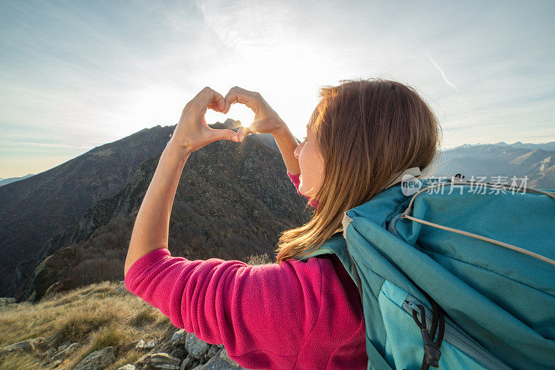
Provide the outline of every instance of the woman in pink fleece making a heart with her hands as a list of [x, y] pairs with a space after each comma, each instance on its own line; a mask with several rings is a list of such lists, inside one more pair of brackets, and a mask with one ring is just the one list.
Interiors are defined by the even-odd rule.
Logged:
[[[345, 210], [368, 201], [405, 169], [425, 169], [438, 148], [436, 117], [412, 87], [341, 81], [323, 87], [320, 97], [298, 144], [260, 94], [233, 87], [223, 97], [206, 87], [185, 106], [133, 228], [124, 271], [129, 292], [174, 326], [223, 344], [248, 369], [367, 368], [357, 286], [333, 255], [298, 259], [342, 230]], [[234, 133], [206, 125], [207, 108], [227, 113], [237, 102], [255, 112], [249, 128]], [[169, 215], [189, 153], [250, 133], [273, 135], [297, 192], [315, 207], [311, 220], [282, 234], [278, 263], [172, 257]]]

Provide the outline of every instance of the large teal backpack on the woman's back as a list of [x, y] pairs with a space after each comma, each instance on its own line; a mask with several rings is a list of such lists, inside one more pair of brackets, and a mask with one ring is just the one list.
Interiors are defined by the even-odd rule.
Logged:
[[301, 258], [357, 283], [368, 369], [555, 369], [555, 194], [411, 174]]

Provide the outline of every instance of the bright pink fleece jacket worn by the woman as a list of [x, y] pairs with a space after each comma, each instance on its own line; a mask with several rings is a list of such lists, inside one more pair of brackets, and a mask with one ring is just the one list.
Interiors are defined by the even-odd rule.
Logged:
[[359, 292], [335, 255], [250, 266], [160, 248], [133, 263], [125, 285], [247, 369], [367, 368]]

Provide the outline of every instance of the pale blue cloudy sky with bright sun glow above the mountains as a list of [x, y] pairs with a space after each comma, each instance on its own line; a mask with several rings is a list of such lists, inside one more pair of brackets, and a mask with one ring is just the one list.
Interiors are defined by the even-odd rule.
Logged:
[[[414, 87], [443, 148], [555, 140], [555, 1], [0, 0], [0, 178], [178, 123], [205, 86], [262, 94], [298, 138], [318, 88]], [[208, 124], [254, 114], [236, 104]]]

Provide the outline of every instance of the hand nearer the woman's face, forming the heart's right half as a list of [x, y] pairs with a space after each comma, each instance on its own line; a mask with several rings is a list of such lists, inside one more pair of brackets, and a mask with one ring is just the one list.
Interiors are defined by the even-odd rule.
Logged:
[[248, 127], [241, 126], [237, 131], [239, 140], [243, 140], [250, 133], [275, 133], [285, 125], [278, 113], [266, 103], [258, 92], [248, 91], [237, 86], [232, 87], [225, 95], [225, 110], [223, 112], [227, 113], [233, 103], [243, 103], [255, 112], [253, 124]]

